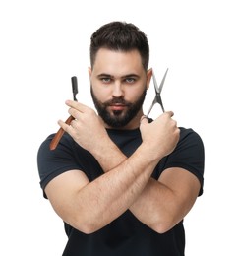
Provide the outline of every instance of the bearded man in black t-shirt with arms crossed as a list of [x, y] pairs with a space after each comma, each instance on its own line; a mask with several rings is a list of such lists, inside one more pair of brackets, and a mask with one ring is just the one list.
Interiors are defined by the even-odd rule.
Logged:
[[173, 112], [150, 120], [152, 70], [144, 32], [112, 22], [91, 36], [89, 79], [97, 113], [67, 100], [75, 120], [38, 151], [44, 197], [65, 223], [63, 255], [184, 255], [183, 218], [203, 193], [204, 146]]

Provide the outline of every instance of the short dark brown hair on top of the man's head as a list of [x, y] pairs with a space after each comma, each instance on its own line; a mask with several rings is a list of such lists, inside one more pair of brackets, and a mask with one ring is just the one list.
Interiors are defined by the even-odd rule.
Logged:
[[135, 25], [125, 22], [111, 22], [101, 26], [90, 37], [90, 65], [93, 67], [100, 48], [115, 51], [138, 50], [145, 70], [148, 69], [149, 46], [147, 35]]

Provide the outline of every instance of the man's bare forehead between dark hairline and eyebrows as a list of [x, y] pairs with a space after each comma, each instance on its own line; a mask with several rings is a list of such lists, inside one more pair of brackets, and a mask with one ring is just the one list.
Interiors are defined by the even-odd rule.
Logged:
[[124, 76], [144, 72], [144, 67], [138, 50], [114, 51], [101, 48], [96, 54], [93, 72]]

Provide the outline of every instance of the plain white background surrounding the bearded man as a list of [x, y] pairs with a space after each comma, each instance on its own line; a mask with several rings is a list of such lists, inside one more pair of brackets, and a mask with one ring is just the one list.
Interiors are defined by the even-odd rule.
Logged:
[[89, 36], [114, 20], [147, 33], [158, 81], [169, 68], [165, 108], [205, 143], [204, 195], [185, 219], [186, 255], [237, 255], [236, 11], [234, 0], [1, 0], [1, 255], [63, 251], [63, 224], [39, 187], [37, 149], [68, 117], [72, 76], [78, 100], [92, 106]]

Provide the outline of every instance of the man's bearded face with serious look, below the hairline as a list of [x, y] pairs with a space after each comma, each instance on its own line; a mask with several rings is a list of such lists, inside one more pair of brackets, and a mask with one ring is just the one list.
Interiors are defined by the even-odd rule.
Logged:
[[138, 127], [149, 82], [139, 52], [102, 48], [89, 75], [91, 96], [105, 125], [123, 129]]

